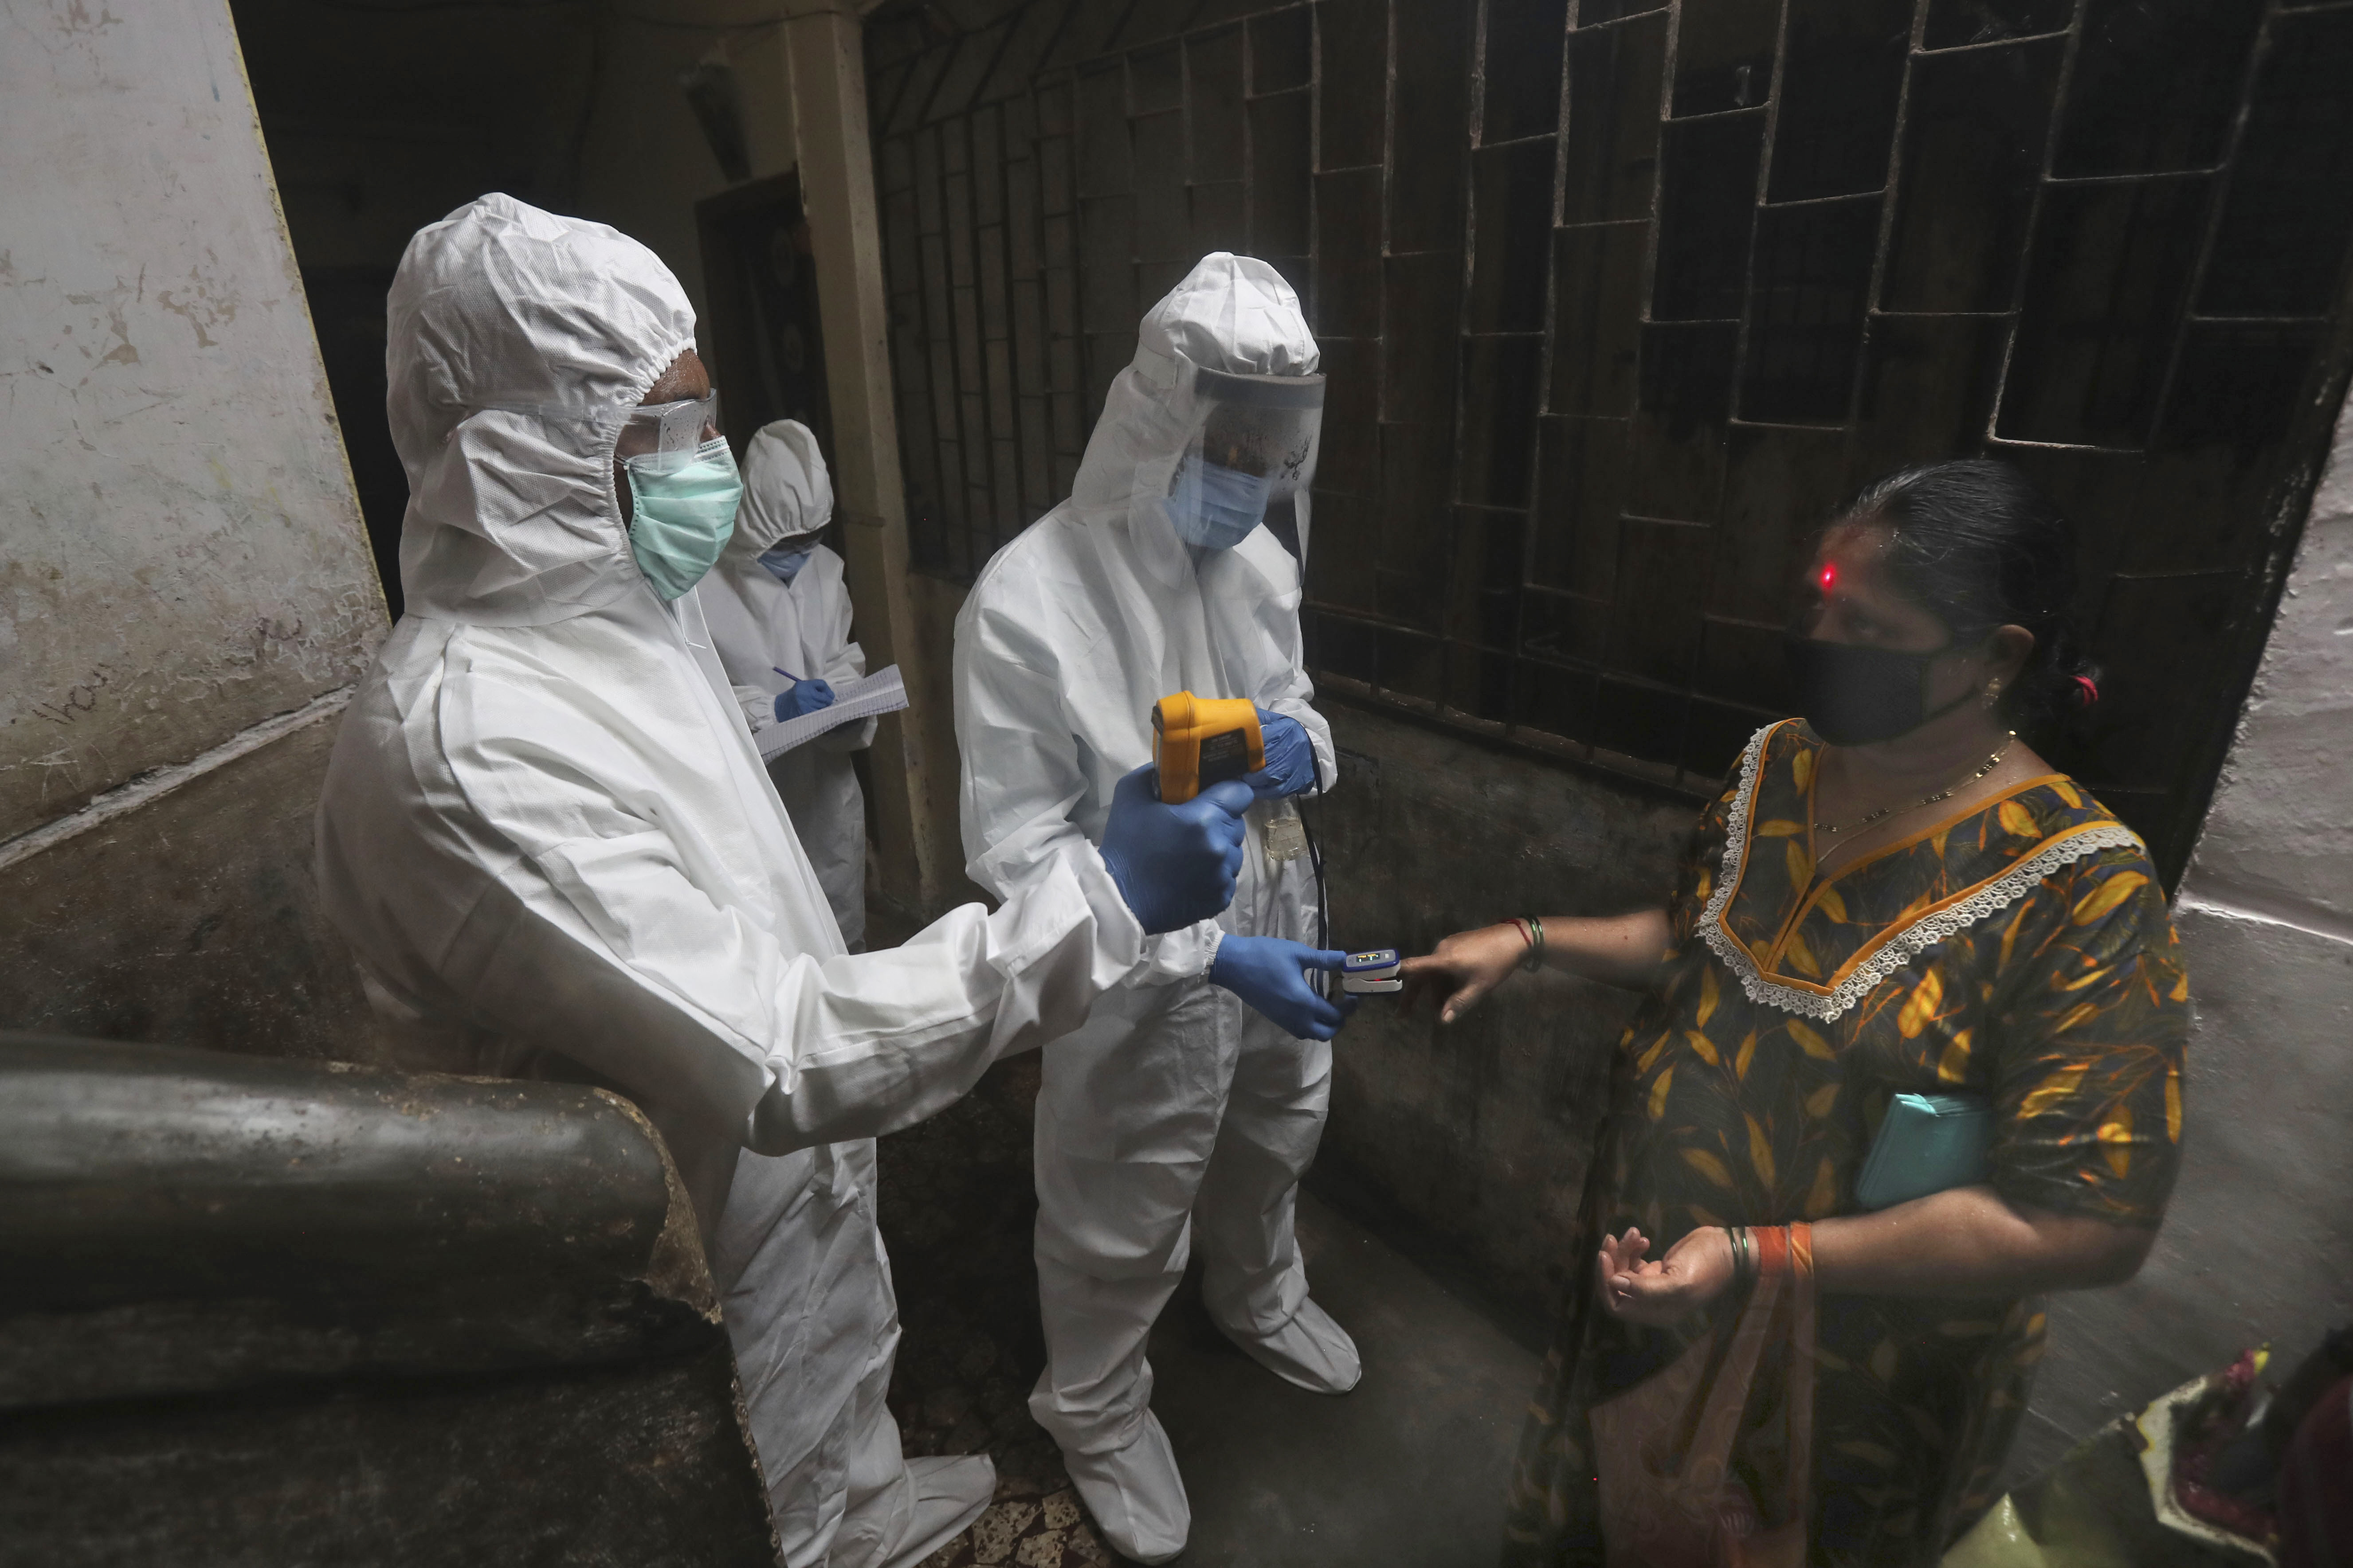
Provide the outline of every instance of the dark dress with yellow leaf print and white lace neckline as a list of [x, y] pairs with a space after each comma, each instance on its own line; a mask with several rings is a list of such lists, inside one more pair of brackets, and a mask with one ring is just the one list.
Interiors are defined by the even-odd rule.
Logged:
[[[1821, 741], [1748, 743], [1668, 905], [1664, 987], [1619, 1041], [1574, 1248], [1638, 1225], [1664, 1255], [1701, 1225], [1857, 1213], [1897, 1093], [1993, 1103], [1993, 1187], [2155, 1227], [2181, 1143], [2188, 980], [2139, 837], [2047, 773], [1814, 877]], [[1588, 1413], [1713, 1333], [1612, 1319], [1591, 1265], [1537, 1385], [1506, 1563], [1600, 1563]], [[1809, 1561], [1934, 1563], [1991, 1502], [2042, 1352], [2033, 1300], [1821, 1295]], [[1774, 1373], [1779, 1375], [1779, 1373]], [[1734, 1467], [1781, 1495], [1774, 1375]], [[1767, 1521], [1779, 1523], [1779, 1521]]]

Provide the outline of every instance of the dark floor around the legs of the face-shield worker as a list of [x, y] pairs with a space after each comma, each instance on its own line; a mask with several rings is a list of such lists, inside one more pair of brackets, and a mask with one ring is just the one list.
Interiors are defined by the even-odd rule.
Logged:
[[[998, 1460], [998, 1502], [927, 1568], [1118, 1561], [1085, 1521], [1024, 1399], [1045, 1345], [1031, 1272], [1035, 1058], [882, 1140], [882, 1222], [906, 1340], [892, 1403], [908, 1453]], [[1153, 1408], [1193, 1497], [1198, 1568], [1485, 1568], [1537, 1356], [1405, 1255], [1304, 1199], [1315, 1298], [1355, 1335], [1365, 1382], [1299, 1392], [1212, 1328], [1195, 1281], [1153, 1333]]]

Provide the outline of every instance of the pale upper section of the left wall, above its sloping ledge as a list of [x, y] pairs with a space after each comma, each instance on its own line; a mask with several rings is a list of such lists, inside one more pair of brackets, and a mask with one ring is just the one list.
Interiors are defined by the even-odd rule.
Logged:
[[0, 0], [0, 839], [384, 630], [221, 0]]

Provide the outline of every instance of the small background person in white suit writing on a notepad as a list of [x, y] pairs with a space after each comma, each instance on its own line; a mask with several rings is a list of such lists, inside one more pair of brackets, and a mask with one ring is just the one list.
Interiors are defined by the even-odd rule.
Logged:
[[[835, 682], [866, 675], [866, 649], [849, 642], [842, 557], [816, 543], [831, 520], [816, 435], [791, 418], [762, 425], [744, 444], [734, 538], [694, 585], [753, 733], [831, 708]], [[866, 943], [866, 795], [849, 755], [873, 738], [875, 719], [854, 719], [767, 764], [852, 952]]]

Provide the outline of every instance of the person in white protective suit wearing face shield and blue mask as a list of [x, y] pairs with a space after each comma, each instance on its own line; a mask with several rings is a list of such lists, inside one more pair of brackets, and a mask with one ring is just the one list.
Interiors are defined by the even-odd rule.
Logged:
[[1332, 788], [1337, 766], [1299, 663], [1299, 557], [1261, 524], [1287, 515], [1304, 555], [1315, 362], [1299, 296], [1271, 266], [1205, 256], [1144, 317], [1073, 496], [988, 562], [955, 623], [965, 853], [984, 889], [1094, 851], [1120, 776], [1153, 755], [1158, 698], [1252, 698], [1266, 738], [1233, 905], [1146, 943], [1146, 973], [1045, 1051], [1047, 1368], [1031, 1413], [1104, 1535], [1144, 1563], [1191, 1530], [1144, 1359], [1186, 1269], [1188, 1220], [1228, 1338], [1306, 1389], [1344, 1394], [1360, 1375], [1292, 1239], [1344, 1016], [1301, 966], [1344, 954], [1299, 947], [1322, 933], [1287, 797]]

